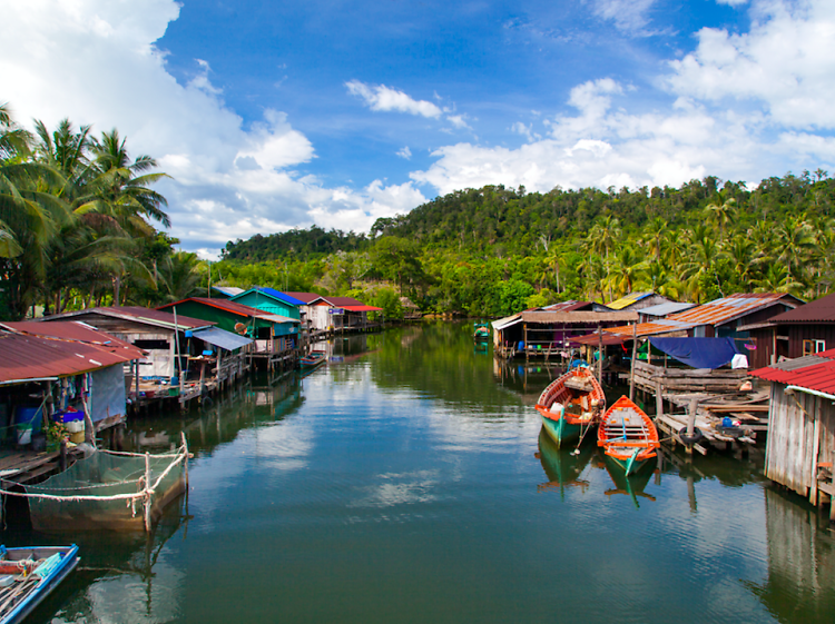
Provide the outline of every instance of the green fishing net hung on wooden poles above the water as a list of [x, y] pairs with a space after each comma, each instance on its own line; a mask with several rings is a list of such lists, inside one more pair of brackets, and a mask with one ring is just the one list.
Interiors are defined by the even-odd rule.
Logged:
[[[184, 491], [183, 462], [159, 481], [181, 457], [181, 454], [149, 456], [153, 518]], [[141, 529], [144, 488], [144, 455], [97, 452], [43, 483], [27, 485], [26, 492], [60, 497], [29, 497], [32, 527], [37, 531]]]

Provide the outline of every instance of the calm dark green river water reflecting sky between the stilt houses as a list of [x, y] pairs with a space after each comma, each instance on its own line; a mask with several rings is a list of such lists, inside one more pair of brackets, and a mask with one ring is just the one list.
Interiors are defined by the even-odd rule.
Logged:
[[186, 430], [187, 505], [150, 541], [7, 531], [82, 549], [31, 622], [835, 621], [833, 533], [756, 458], [627, 482], [560, 453], [531, 407], [554, 372], [470, 330], [337, 339], [304, 379], [131, 423], [134, 449]]

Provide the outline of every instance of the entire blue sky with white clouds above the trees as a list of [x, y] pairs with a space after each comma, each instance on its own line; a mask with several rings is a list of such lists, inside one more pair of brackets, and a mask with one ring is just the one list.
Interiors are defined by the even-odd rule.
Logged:
[[118, 128], [170, 234], [439, 195], [835, 174], [835, 0], [0, 0], [0, 102]]

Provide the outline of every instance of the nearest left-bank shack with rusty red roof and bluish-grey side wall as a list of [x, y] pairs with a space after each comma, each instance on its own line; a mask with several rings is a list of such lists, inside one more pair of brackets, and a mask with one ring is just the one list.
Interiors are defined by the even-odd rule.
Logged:
[[[100, 430], [127, 417], [125, 365], [141, 349], [80, 323], [4, 323], [0, 334], [0, 427], [35, 416], [40, 430], [56, 412], [87, 413]], [[8, 440], [4, 440], [8, 442]]]

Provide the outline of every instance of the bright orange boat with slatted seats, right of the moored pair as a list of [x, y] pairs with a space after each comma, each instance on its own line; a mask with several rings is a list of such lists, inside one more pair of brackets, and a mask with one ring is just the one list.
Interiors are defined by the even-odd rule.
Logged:
[[625, 396], [603, 414], [597, 444], [627, 476], [637, 473], [648, 459], [656, 457], [656, 448], [661, 446], [652, 420]]

